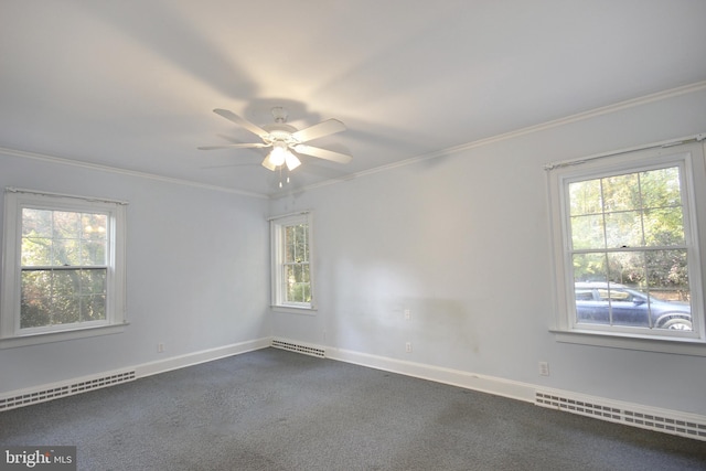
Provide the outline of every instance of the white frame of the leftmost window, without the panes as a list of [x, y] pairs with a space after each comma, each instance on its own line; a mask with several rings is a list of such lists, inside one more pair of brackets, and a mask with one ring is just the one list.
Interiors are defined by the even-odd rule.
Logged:
[[[0, 349], [117, 333], [126, 315], [126, 202], [8, 188], [4, 192]], [[93, 212], [108, 215], [106, 319], [21, 329], [22, 208]]]

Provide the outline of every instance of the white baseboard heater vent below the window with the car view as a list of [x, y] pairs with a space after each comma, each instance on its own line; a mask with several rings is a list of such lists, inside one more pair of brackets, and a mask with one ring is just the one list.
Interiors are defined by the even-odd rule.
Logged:
[[692, 418], [629, 410], [617, 405], [600, 404], [597, 400], [579, 400], [542, 392], [536, 392], [535, 404], [550, 409], [706, 441], [706, 422]]

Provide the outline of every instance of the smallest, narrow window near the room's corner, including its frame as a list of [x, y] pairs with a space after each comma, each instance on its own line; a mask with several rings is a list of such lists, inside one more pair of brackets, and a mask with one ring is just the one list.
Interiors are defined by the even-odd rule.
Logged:
[[311, 214], [270, 221], [272, 244], [272, 306], [313, 309]]

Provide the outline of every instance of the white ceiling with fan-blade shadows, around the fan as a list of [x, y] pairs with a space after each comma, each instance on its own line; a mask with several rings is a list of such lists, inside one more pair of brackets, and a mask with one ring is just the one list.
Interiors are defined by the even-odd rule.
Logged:
[[0, 0], [0, 147], [272, 194], [257, 138], [312, 141], [291, 188], [706, 79], [704, 0]]

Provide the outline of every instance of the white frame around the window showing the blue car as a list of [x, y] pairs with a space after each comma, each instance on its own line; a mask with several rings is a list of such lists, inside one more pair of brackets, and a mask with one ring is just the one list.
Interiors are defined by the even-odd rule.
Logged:
[[[699, 137], [703, 135], [699, 135]], [[694, 140], [694, 139], [693, 139]], [[559, 342], [611, 346], [630, 350], [668, 352], [706, 356], [706, 313], [704, 293], [706, 260], [706, 162], [699, 142], [666, 146], [652, 144], [639, 150], [601, 154], [573, 162], [547, 165], [554, 274], [556, 282], [555, 317], [550, 331]], [[638, 329], [605, 329], [575, 322], [574, 270], [570, 251], [568, 184], [610, 174], [632, 173], [648, 169], [681, 169], [684, 231], [692, 298], [692, 332]]]

